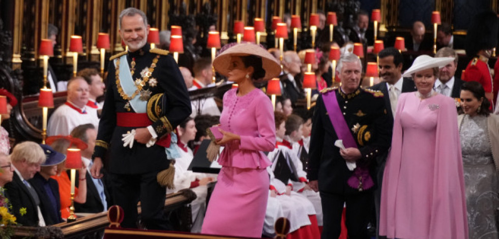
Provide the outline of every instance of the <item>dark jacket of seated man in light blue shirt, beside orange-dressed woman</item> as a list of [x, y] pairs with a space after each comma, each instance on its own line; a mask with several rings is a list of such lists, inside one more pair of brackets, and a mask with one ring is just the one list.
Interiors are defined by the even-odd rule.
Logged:
[[[76, 182], [75, 186], [78, 187], [79, 182]], [[105, 186], [105, 185], [103, 185]], [[104, 187], [104, 193], [106, 194], [107, 206], [110, 206], [109, 196]], [[86, 172], [86, 201], [85, 203], [74, 203], [75, 212], [77, 213], [100, 213], [103, 212], [104, 206], [102, 205], [101, 197], [99, 196], [99, 192], [95, 187], [94, 181], [92, 180], [92, 176], [89, 172]]]

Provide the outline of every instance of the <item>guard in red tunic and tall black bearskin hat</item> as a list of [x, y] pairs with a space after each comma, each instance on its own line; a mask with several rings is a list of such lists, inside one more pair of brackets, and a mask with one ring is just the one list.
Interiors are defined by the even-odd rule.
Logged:
[[[492, 76], [488, 66], [488, 59], [492, 48], [497, 45], [497, 15], [492, 11], [477, 14], [469, 24], [466, 35], [466, 55], [473, 57], [465, 70], [465, 81], [477, 81], [485, 89], [485, 97], [493, 104], [494, 91]], [[497, 87], [497, 86], [495, 86]]]

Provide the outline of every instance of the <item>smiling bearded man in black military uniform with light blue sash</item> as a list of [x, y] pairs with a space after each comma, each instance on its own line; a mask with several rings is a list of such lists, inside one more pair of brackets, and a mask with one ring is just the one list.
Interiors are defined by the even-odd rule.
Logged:
[[[165, 147], [170, 144], [170, 132], [191, 114], [191, 104], [173, 58], [147, 44], [149, 25], [145, 14], [128, 8], [120, 14], [119, 22], [120, 35], [129, 50], [111, 57], [109, 62], [91, 172], [95, 178], [102, 177], [102, 159], [109, 150], [106, 166], [111, 174], [114, 204], [125, 212], [122, 227], [136, 227], [140, 200], [144, 226], [167, 230], [171, 227], [163, 214], [166, 188], [160, 186], [156, 176], [169, 166]], [[154, 109], [146, 107], [148, 101], [155, 99], [158, 103], [160, 98], [162, 104], [155, 104]], [[133, 147], [124, 147], [122, 137], [127, 133], [133, 135]], [[154, 139], [157, 141], [153, 145]]]

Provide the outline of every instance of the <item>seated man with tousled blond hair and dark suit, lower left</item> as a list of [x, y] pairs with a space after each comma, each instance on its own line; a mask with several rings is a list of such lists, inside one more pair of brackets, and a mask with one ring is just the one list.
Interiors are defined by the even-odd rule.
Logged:
[[45, 162], [42, 147], [31, 141], [19, 143], [12, 150], [10, 158], [15, 174], [12, 182], [5, 185], [5, 189], [12, 204], [11, 212], [17, 218], [17, 223], [23, 226], [45, 226], [40, 198], [27, 181], [40, 172], [40, 164]]

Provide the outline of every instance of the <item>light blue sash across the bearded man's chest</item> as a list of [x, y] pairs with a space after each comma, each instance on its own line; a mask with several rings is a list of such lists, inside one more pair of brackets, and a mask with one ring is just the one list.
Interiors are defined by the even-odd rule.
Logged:
[[[114, 67], [116, 67], [116, 60], [114, 60]], [[127, 55], [120, 57], [120, 85], [123, 92], [127, 95], [132, 95], [136, 90], [135, 82], [132, 74], [130, 74], [130, 66], [128, 66]], [[130, 106], [135, 113], [146, 113], [148, 102], [140, 99], [140, 94], [135, 95], [130, 101]]]

